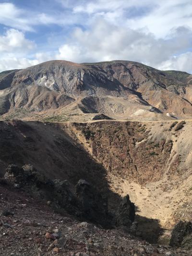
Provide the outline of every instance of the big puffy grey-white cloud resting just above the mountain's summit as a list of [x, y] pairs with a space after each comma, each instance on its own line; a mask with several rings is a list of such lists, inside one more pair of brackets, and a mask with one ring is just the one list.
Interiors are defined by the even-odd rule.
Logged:
[[[191, 46], [191, 31], [180, 27], [171, 39], [157, 39], [143, 30], [132, 30], [97, 20], [90, 30], [74, 30], [58, 58], [69, 61], [139, 61], [157, 67], [177, 52]], [[75, 42], [75, 43], [74, 43]]]

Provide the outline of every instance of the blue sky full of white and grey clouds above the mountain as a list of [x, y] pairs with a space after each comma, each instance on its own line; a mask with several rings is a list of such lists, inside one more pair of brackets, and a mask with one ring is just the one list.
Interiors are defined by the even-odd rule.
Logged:
[[192, 73], [192, 0], [0, 0], [0, 72], [50, 60]]

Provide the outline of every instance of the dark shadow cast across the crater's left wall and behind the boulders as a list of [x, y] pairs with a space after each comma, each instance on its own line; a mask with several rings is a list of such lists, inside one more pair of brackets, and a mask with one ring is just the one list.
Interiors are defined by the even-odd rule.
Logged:
[[[0, 135], [1, 176], [9, 164], [31, 164], [50, 179], [68, 180], [73, 185], [84, 179], [94, 184], [108, 196], [109, 210], [120, 202], [120, 195], [109, 188], [107, 170], [57, 123], [2, 121]], [[142, 216], [137, 216], [136, 221], [142, 238], [156, 243], [162, 233], [158, 221]]]

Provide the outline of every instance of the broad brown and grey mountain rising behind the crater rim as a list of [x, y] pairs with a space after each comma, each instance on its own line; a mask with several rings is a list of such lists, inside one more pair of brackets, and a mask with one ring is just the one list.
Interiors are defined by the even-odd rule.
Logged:
[[192, 118], [192, 75], [133, 61], [47, 61], [0, 73], [1, 119]]

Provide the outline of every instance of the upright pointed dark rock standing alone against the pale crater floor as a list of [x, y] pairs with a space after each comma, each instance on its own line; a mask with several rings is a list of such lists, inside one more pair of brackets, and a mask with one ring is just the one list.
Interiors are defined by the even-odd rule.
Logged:
[[131, 226], [135, 218], [135, 206], [130, 201], [129, 195], [126, 195], [122, 198], [118, 213], [116, 217], [116, 222], [118, 226]]

